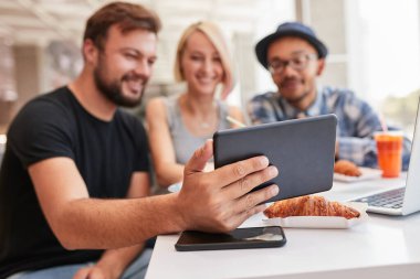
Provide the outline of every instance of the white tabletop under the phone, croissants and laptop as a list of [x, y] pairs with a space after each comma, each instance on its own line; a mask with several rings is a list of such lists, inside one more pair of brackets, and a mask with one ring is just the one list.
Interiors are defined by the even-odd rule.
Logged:
[[[334, 183], [324, 195], [347, 201], [361, 189], [377, 192], [405, 179]], [[419, 196], [420, 202], [420, 196]], [[178, 235], [158, 236], [146, 278], [420, 278], [420, 214], [369, 214], [348, 229], [284, 228], [281, 248], [179, 253]], [[255, 215], [244, 226], [263, 226]]]

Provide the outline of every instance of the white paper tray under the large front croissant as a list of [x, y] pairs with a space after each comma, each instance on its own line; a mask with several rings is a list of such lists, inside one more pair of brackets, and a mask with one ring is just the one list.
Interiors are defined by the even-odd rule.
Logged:
[[346, 219], [336, 216], [292, 216], [287, 218], [265, 218], [264, 223], [273, 226], [297, 228], [349, 228], [368, 219], [365, 203], [344, 203], [360, 213], [358, 218]]

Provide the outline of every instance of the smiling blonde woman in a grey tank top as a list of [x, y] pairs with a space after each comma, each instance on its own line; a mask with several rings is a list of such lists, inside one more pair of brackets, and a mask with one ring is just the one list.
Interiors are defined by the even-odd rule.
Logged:
[[233, 128], [227, 116], [243, 121], [239, 108], [214, 96], [221, 87], [221, 99], [224, 99], [233, 87], [228, 47], [216, 24], [198, 22], [183, 32], [177, 47], [175, 77], [186, 82], [186, 92], [155, 98], [146, 109], [150, 150], [160, 186], [182, 180], [183, 165], [214, 131]]

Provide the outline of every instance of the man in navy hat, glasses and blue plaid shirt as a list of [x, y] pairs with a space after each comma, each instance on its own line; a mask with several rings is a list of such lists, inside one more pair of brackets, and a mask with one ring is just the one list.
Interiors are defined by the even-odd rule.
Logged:
[[[328, 49], [315, 32], [300, 22], [286, 22], [255, 45], [259, 62], [270, 71], [277, 92], [256, 95], [249, 103], [253, 124], [335, 114], [338, 118], [336, 157], [358, 165], [377, 167], [375, 131], [378, 115], [348, 89], [321, 87]], [[405, 142], [408, 168], [410, 142]]]

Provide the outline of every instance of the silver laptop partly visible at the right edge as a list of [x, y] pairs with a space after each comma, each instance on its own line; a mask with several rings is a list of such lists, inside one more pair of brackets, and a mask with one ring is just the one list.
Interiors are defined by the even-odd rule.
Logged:
[[417, 108], [406, 186], [354, 201], [367, 203], [368, 212], [379, 214], [408, 215], [420, 211], [420, 101]]

